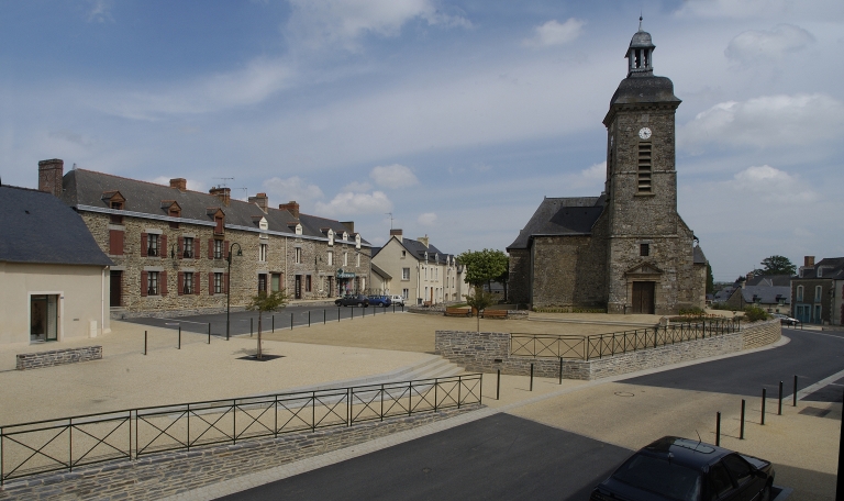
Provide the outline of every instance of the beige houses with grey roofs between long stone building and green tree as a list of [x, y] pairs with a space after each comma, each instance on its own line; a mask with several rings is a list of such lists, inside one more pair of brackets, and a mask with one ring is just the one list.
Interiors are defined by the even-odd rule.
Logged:
[[404, 238], [401, 230], [390, 230], [390, 240], [373, 255], [373, 269], [379, 292], [402, 296], [408, 304], [458, 301], [468, 290], [454, 255], [431, 245], [427, 236]]

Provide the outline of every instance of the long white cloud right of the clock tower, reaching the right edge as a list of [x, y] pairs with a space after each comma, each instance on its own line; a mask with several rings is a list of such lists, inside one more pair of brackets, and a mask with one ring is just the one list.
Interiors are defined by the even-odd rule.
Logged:
[[807, 146], [840, 140], [844, 104], [825, 94], [763, 96], [728, 101], [698, 113], [678, 131], [679, 146]]

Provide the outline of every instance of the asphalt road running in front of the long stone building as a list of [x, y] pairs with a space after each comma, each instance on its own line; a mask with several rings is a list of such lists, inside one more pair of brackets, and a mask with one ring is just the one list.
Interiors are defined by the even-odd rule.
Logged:
[[[363, 315], [382, 315], [401, 313], [403, 309], [401, 307], [389, 308], [337, 308], [334, 305], [295, 305], [284, 308], [273, 314], [264, 313], [262, 321], [262, 329], [266, 331], [290, 329], [292, 323], [293, 329], [307, 327], [308, 324], [348, 321], [359, 319]], [[134, 318], [125, 319], [125, 322], [136, 323], [141, 325], [152, 325], [155, 327], [165, 329], [178, 329], [181, 325], [181, 330], [185, 332], [196, 332], [201, 334], [208, 334], [208, 326], [211, 325], [211, 335], [225, 336], [225, 313], [214, 313], [204, 315], [191, 315], [191, 316], [175, 316], [169, 319], [155, 319], [155, 318]], [[231, 313], [229, 333], [232, 336], [249, 334], [249, 332], [258, 332], [258, 313], [254, 311], [237, 311]]]

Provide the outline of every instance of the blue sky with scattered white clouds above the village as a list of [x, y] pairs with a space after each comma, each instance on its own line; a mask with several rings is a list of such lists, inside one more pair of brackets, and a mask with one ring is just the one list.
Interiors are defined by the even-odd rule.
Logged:
[[62, 158], [504, 249], [543, 197], [600, 194], [640, 13], [715, 280], [844, 256], [841, 0], [0, 2], [0, 180]]

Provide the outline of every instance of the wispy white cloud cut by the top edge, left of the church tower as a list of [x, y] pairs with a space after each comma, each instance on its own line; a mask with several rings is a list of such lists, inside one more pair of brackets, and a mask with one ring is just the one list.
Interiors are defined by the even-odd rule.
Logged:
[[293, 15], [289, 29], [306, 45], [337, 44], [358, 48], [366, 34], [397, 36], [404, 23], [421, 19], [430, 25], [470, 26], [459, 15], [438, 11], [430, 0], [291, 0]]

